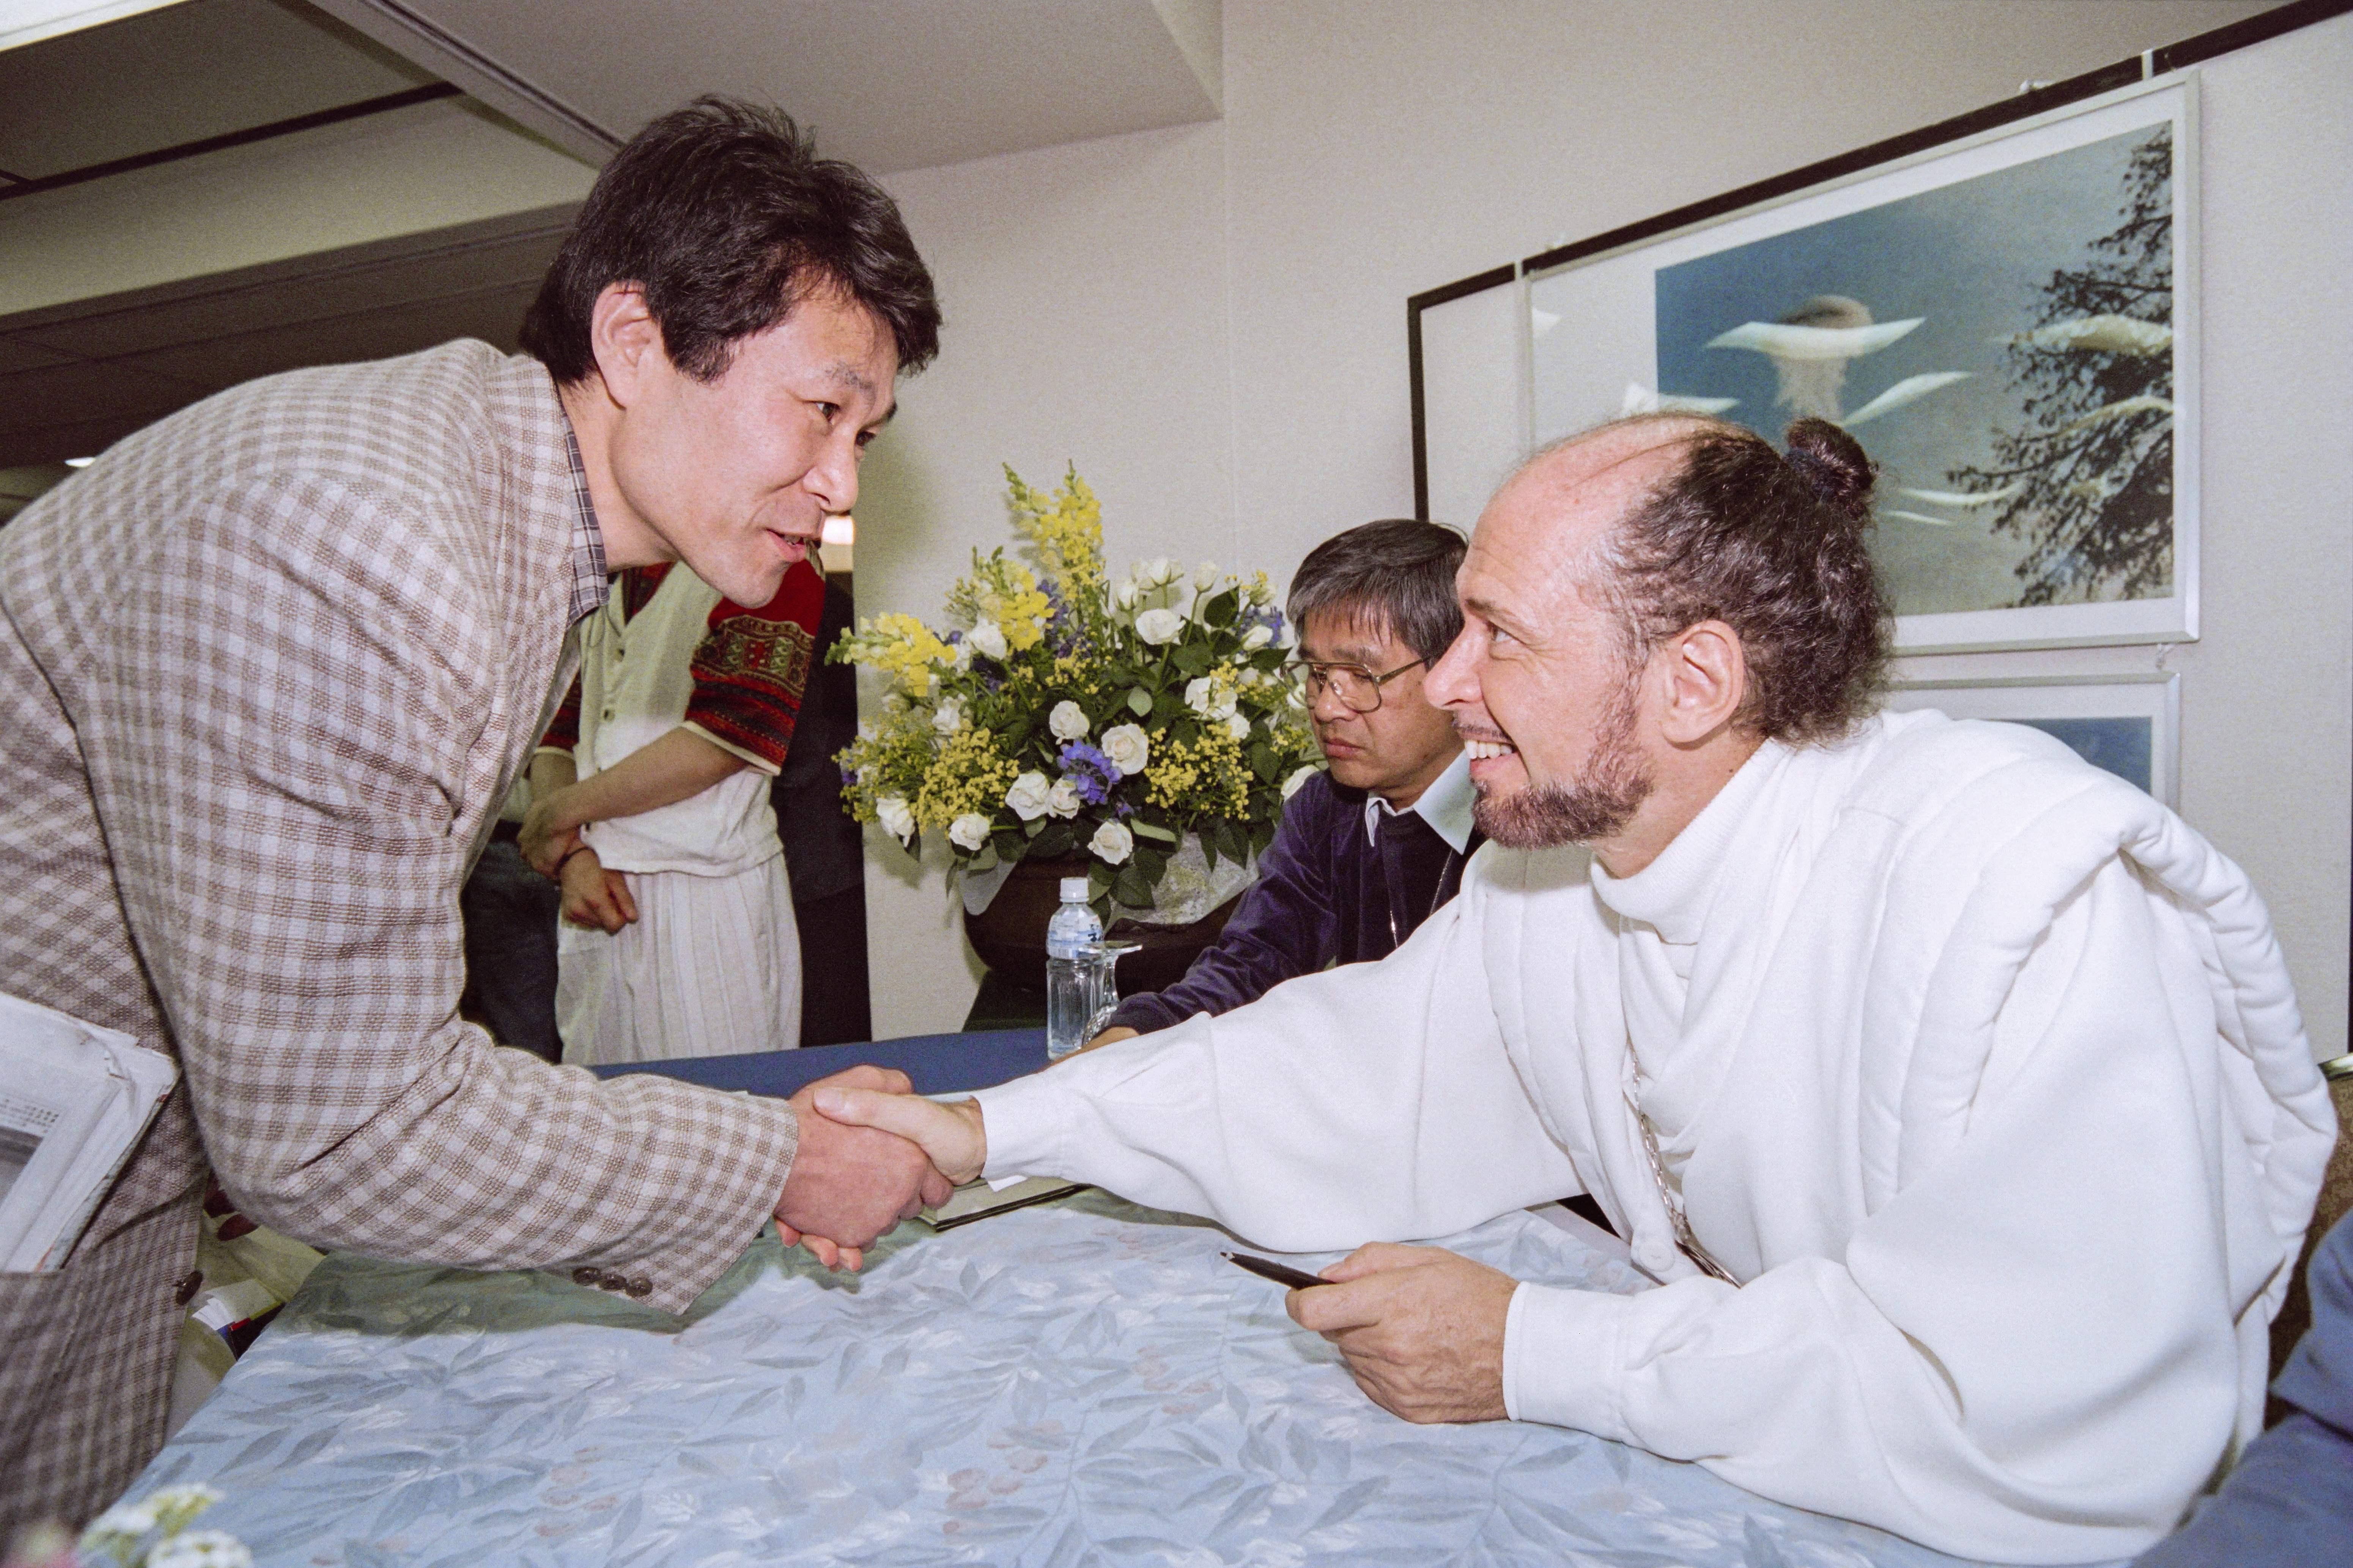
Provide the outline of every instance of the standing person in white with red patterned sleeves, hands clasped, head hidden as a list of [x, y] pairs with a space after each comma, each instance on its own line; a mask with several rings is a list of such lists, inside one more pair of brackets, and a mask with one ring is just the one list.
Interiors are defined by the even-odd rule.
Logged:
[[800, 936], [767, 780], [809, 684], [824, 574], [748, 609], [675, 564], [614, 578], [532, 757], [525, 858], [562, 884], [565, 1060], [800, 1044]]

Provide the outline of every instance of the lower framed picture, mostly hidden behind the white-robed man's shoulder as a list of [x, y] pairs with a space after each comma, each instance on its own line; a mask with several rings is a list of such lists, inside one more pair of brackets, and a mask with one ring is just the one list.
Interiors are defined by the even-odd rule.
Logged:
[[1887, 708], [1934, 708], [1955, 719], [2002, 719], [2064, 741], [2078, 757], [2167, 806], [2181, 804], [2181, 677], [2012, 675], [1897, 682]]

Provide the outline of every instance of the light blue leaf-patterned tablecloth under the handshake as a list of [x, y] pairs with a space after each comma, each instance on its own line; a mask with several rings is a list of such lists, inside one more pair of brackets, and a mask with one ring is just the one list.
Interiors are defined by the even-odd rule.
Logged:
[[[1226, 1246], [1104, 1194], [901, 1225], [859, 1279], [765, 1239], [682, 1328], [329, 1258], [129, 1495], [219, 1486], [271, 1568], [1955, 1561], [1579, 1432], [1395, 1420]], [[1642, 1284], [1529, 1215], [1452, 1246]]]

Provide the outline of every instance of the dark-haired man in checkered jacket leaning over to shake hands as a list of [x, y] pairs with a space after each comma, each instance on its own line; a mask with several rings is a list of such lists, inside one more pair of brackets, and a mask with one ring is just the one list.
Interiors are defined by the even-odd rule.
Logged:
[[221, 393], [0, 534], [0, 990], [184, 1072], [66, 1267], [0, 1274], [0, 1540], [160, 1443], [207, 1171], [318, 1246], [668, 1309], [772, 1213], [847, 1251], [946, 1197], [882, 1133], [456, 1016], [569, 628], [621, 567], [776, 595], [936, 350], [922, 259], [791, 120], [699, 101], [598, 179], [522, 339]]

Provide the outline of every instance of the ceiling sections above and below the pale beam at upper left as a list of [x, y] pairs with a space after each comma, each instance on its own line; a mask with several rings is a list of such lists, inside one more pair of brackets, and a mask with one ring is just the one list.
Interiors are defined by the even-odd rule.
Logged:
[[[12, 181], [435, 82], [591, 162], [699, 92], [734, 92], [889, 174], [1214, 118], [1219, 0], [181, 0], [0, 49], [0, 226]], [[454, 336], [513, 348], [569, 216], [0, 315], [0, 470], [92, 456], [252, 376]]]

